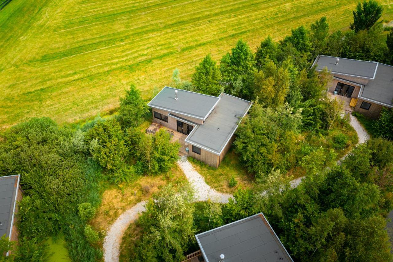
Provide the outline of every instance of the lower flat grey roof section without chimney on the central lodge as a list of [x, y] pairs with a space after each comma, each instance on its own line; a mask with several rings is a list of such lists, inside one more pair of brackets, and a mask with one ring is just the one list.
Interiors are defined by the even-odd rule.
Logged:
[[239, 120], [247, 113], [251, 102], [221, 93], [220, 101], [202, 125], [191, 131], [186, 142], [220, 154], [235, 132]]

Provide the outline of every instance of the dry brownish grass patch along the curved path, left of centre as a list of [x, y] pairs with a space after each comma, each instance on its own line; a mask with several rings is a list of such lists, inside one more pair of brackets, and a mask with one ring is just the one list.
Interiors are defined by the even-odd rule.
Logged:
[[90, 224], [96, 230], [106, 230], [120, 214], [140, 201], [148, 199], [163, 185], [179, 185], [187, 181], [182, 170], [175, 165], [171, 171], [158, 176], [143, 176], [129, 184], [121, 184], [105, 190], [101, 205]]

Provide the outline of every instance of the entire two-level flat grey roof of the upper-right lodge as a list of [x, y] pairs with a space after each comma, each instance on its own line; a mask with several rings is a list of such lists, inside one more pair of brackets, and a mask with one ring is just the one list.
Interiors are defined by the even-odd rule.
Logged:
[[332, 74], [369, 79], [367, 85], [362, 86], [359, 98], [393, 107], [393, 66], [345, 58], [340, 58], [336, 65], [337, 58], [318, 55], [313, 65], [317, 71], [327, 68]]

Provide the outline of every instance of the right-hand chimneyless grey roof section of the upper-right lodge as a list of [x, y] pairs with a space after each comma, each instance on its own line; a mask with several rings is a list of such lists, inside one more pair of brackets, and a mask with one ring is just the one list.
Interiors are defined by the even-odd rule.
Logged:
[[392, 107], [393, 66], [378, 63], [375, 79], [363, 86], [360, 97]]

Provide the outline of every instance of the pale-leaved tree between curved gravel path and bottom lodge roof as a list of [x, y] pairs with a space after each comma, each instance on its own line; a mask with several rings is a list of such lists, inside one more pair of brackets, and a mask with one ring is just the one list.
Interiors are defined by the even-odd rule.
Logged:
[[[193, 193], [188, 186], [179, 192], [167, 185], [146, 204], [138, 218], [142, 231], [133, 261], [182, 261], [194, 238]], [[146, 248], [148, 247], [148, 248]], [[150, 249], [146, 253], [146, 249]], [[148, 257], [147, 257], [148, 256]]]

